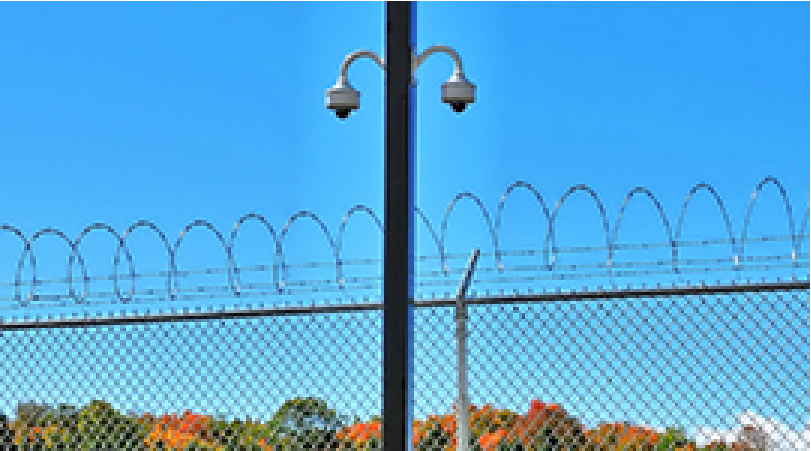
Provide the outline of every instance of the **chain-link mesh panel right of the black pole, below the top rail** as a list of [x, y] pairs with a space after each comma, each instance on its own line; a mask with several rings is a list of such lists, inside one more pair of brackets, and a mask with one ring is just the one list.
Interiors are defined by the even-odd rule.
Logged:
[[[415, 319], [415, 411], [445, 413], [439, 443], [455, 438], [453, 311]], [[807, 291], [468, 313], [473, 449], [808, 449]]]

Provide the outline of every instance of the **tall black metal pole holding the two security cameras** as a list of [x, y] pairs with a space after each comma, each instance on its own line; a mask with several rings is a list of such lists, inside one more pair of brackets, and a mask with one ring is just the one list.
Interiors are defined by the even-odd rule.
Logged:
[[383, 441], [411, 451], [414, 361], [412, 2], [386, 2], [386, 205], [383, 234]]

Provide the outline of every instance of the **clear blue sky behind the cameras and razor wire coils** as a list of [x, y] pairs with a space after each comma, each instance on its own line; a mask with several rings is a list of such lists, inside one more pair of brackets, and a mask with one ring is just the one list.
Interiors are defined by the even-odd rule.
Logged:
[[[310, 210], [333, 234], [356, 204], [368, 205], [382, 218], [383, 74], [368, 60], [352, 66], [350, 80], [362, 91], [362, 106], [344, 122], [324, 107], [324, 91], [335, 83], [338, 68], [351, 51], [368, 48], [384, 53], [384, 9], [372, 2], [0, 5], [0, 155], [5, 188], [0, 223], [13, 224], [28, 237], [53, 226], [75, 238], [93, 222], [105, 222], [123, 233], [135, 221], [148, 219], [174, 241], [195, 219], [207, 219], [228, 234], [241, 215], [252, 211], [281, 228], [297, 211]], [[550, 208], [570, 186], [591, 186], [612, 227], [627, 193], [644, 186], [655, 193], [675, 228], [690, 189], [708, 182], [723, 197], [739, 236], [753, 190], [764, 177], [774, 176], [788, 192], [799, 230], [809, 199], [808, 3], [454, 2], [419, 4], [417, 11], [418, 49], [433, 44], [457, 49], [478, 95], [461, 116], [440, 102], [440, 86], [452, 72], [446, 56], [430, 58], [417, 74], [417, 204], [434, 227], [440, 226], [456, 193], [476, 193], [495, 215], [510, 183], [525, 180]], [[749, 235], [788, 234], [778, 190], [767, 185], [760, 196]], [[502, 245], [542, 248], [544, 220], [532, 197], [523, 192], [509, 202]], [[596, 211], [583, 193], [568, 200], [556, 224], [558, 245], [604, 245]], [[450, 221], [448, 252], [467, 254], [473, 246], [492, 252], [480, 216], [472, 202], [460, 204]], [[352, 221], [344, 257], [379, 258], [382, 240], [373, 223], [363, 218]], [[685, 239], [725, 237], [708, 191], [696, 195], [685, 221]], [[314, 223], [302, 224], [291, 229], [285, 242], [288, 262], [329, 261], [332, 256]], [[660, 224], [649, 203], [634, 200], [619, 236], [622, 242], [665, 241]], [[271, 263], [271, 240], [258, 223], [246, 225], [243, 232], [235, 249], [240, 265]], [[372, 239], [375, 236], [377, 240]], [[435, 254], [427, 239], [425, 229], [418, 227], [418, 253]], [[133, 234], [139, 272], [165, 267], [165, 253], [156, 243], [145, 231]], [[96, 233], [83, 246], [89, 272], [109, 273], [114, 241]], [[780, 246], [775, 249], [790, 253], [788, 244]], [[181, 269], [224, 266], [222, 251], [205, 231], [190, 232], [182, 249]], [[0, 282], [14, 281], [19, 252], [19, 241], [8, 232], [0, 233]], [[57, 239], [38, 242], [36, 252], [38, 277], [64, 275], [67, 253]], [[718, 252], [729, 255], [726, 250]], [[808, 252], [807, 241], [803, 252]], [[455, 264], [463, 263], [460, 259]], [[492, 268], [492, 257], [481, 265]], [[25, 271], [30, 275], [30, 268]], [[301, 278], [307, 278], [303, 274], [307, 270], [300, 271]], [[782, 275], [807, 277], [808, 272], [788, 270]], [[632, 282], [662, 280], [671, 281]], [[440, 291], [454, 291], [455, 284]], [[109, 290], [109, 284], [104, 288]], [[41, 292], [64, 289], [63, 285]], [[8, 286], [2, 290], [0, 295], [6, 297], [14, 292]], [[791, 308], [807, 312], [807, 303], [803, 295]], [[449, 315], [442, 323], [446, 329], [452, 325]], [[808, 330], [807, 316], [801, 319], [805, 325], [795, 330]], [[381, 338], [373, 330], [366, 339], [378, 343]], [[452, 330], [445, 332], [450, 339]], [[806, 351], [806, 357], [798, 360], [805, 365], [801, 365], [805, 376], [796, 381], [807, 381], [807, 335], [796, 340], [795, 346]], [[286, 354], [305, 358], [301, 343], [285, 346]], [[418, 357], [419, 349], [423, 348], [418, 346]], [[487, 351], [493, 356], [496, 349]], [[786, 348], [772, 352], [780, 349]], [[447, 360], [432, 365], [449, 373], [442, 387], [453, 392], [452, 348], [442, 352]], [[19, 349], [6, 355], [14, 353], [14, 359], [24, 355]], [[204, 355], [201, 351], [200, 358]], [[369, 358], [379, 362], [374, 359], [380, 357]], [[498, 371], [509, 371], [510, 365], [514, 363], [502, 363]], [[251, 370], [256, 369], [245, 369], [247, 374]], [[374, 376], [380, 371], [375, 364], [364, 371], [379, 377]], [[702, 372], [711, 371], [708, 366]], [[420, 392], [428, 387], [420, 384], [433, 383], [429, 379], [433, 377], [417, 378], [418, 416], [425, 406], [434, 413], [450, 405], [438, 394]], [[520, 380], [516, 376], [514, 383], [521, 385]], [[313, 383], [307, 382], [305, 391]], [[474, 402], [511, 396], [510, 384], [475, 386], [483, 383], [476, 377], [471, 383]], [[729, 389], [723, 387], [720, 390]], [[379, 389], [378, 382], [369, 382], [367, 398], [361, 401], [366, 403], [362, 416], [379, 409]], [[115, 391], [103, 394], [95, 388], [74, 388], [69, 393], [88, 390], [80, 401], [52, 394], [31, 398], [84, 404], [103, 397], [116, 406], [127, 398], [148, 398]], [[290, 390], [310, 394], [296, 387]], [[343, 395], [323, 390], [328, 398], [338, 396], [336, 403], [345, 402]], [[520, 400], [509, 401], [515, 401], [513, 408], [524, 411], [529, 399], [546, 396], [550, 399], [544, 400], [571, 406], [573, 412], [593, 410], [587, 401], [561, 401], [566, 395], [558, 392], [538, 395], [540, 389], [526, 390]], [[616, 393], [619, 398], [612, 398], [612, 403], [624, 396]], [[275, 408], [254, 401], [281, 402], [247, 393], [218, 395], [236, 404], [218, 402], [208, 408], [180, 400], [135, 408], [265, 416]], [[722, 418], [699, 423], [720, 426], [740, 413], [741, 406], [760, 409], [753, 399], [742, 396], [743, 404], [719, 410]], [[787, 396], [807, 400], [807, 382], [795, 385]], [[23, 400], [3, 400], [6, 412]], [[620, 408], [634, 411], [631, 406], [641, 401], [630, 402]], [[807, 402], [802, 408], [800, 417], [796, 411], [792, 416], [769, 407], [761, 410], [798, 427], [808, 421]], [[674, 413], [663, 417], [660, 425], [683, 422], [682, 414], [693, 415]], [[612, 421], [629, 418], [618, 418], [616, 412], [605, 415], [602, 419]], [[721, 423], [714, 424], [716, 420]]]

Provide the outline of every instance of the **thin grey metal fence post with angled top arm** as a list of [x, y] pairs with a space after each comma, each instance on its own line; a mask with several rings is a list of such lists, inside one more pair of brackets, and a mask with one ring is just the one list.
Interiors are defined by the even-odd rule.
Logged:
[[459, 400], [457, 401], [457, 437], [459, 438], [459, 451], [467, 451], [470, 445], [470, 405], [467, 397], [467, 308], [465, 296], [473, 279], [473, 270], [479, 259], [479, 248], [473, 249], [467, 272], [459, 291], [456, 293], [456, 343], [458, 350], [457, 367], [459, 371]]

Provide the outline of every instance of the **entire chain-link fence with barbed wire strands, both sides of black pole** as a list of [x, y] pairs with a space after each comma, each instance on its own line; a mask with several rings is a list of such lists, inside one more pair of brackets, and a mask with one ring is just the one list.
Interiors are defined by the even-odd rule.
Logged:
[[[508, 249], [503, 204], [465, 300], [469, 443], [451, 294], [469, 254], [446, 246], [450, 208], [440, 229], [419, 212], [438, 253], [415, 258], [415, 451], [811, 449], [807, 212], [799, 235], [790, 221], [790, 235], [746, 223], [740, 238], [685, 240], [680, 217], [662, 243], [619, 242], [617, 225], [605, 246]], [[254, 266], [237, 264], [237, 228], [229, 242], [195, 222], [182, 236], [215, 230], [229, 256], [199, 271], [144, 222], [165, 269], [136, 273], [124, 234], [121, 271], [82, 272], [80, 240], [62, 234], [73, 253], [56, 278], [4, 225], [23, 254], [0, 283], [15, 315], [0, 323], [0, 450], [381, 449], [382, 261], [339, 257], [347, 218], [337, 239], [319, 222], [334, 261], [294, 263], [277, 241]], [[212, 304], [233, 300], [261, 304]], [[46, 304], [101, 313], [36, 315]], [[114, 304], [147, 310], [105, 315]]]

